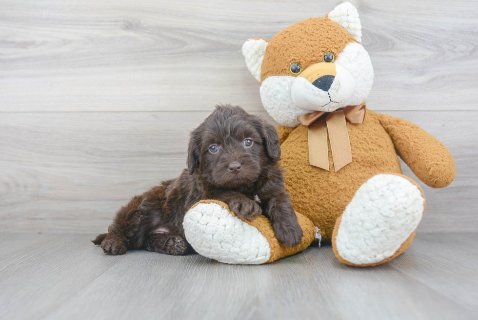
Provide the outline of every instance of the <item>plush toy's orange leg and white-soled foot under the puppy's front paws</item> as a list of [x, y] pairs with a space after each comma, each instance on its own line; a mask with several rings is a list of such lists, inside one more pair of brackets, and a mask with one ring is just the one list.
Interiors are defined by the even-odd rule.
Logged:
[[284, 247], [276, 239], [265, 216], [240, 220], [227, 204], [203, 200], [184, 216], [186, 239], [201, 256], [231, 264], [262, 264], [290, 256], [307, 248], [315, 239], [312, 222], [297, 214], [303, 237], [296, 247]]

